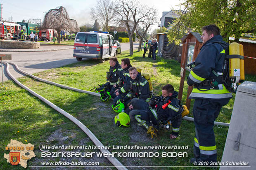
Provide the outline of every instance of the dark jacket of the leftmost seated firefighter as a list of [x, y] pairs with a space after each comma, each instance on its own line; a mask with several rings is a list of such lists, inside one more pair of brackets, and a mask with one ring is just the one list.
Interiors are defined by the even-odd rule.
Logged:
[[123, 75], [123, 69], [119, 62], [116, 62], [114, 67], [109, 68], [109, 76], [107, 76], [107, 80], [109, 80], [110, 85], [114, 85], [118, 82], [118, 77]]

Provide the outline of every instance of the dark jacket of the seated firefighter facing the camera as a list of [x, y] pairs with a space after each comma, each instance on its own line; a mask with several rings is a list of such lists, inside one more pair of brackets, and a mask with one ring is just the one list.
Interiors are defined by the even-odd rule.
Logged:
[[133, 98], [143, 99], [146, 102], [149, 102], [149, 83], [147, 80], [138, 73], [136, 79], [130, 79], [130, 88], [129, 93], [123, 98], [124, 101]]

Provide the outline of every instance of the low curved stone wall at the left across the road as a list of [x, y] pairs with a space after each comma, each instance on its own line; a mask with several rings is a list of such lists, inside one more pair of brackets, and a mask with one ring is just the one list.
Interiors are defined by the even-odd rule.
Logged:
[[1, 40], [0, 48], [2, 49], [39, 49], [40, 42]]

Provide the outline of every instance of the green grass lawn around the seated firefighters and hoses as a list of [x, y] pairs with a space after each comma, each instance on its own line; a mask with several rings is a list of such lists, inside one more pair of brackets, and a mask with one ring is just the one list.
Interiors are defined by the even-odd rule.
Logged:
[[[133, 56], [129, 56], [128, 51], [124, 51], [118, 56], [121, 63], [122, 58], [130, 58], [131, 64], [141, 68], [142, 72], [149, 73], [154, 87], [155, 95], [161, 95], [161, 86], [170, 83], [178, 91], [180, 84], [180, 63], [173, 60], [165, 60], [158, 58], [152, 61], [149, 58], [142, 58], [143, 52], [134, 52]], [[99, 63], [98, 61], [81, 61], [71, 65], [66, 65], [61, 68], [50, 69], [44, 72], [35, 74], [36, 76], [83, 90], [90, 90], [97, 84], [104, 83], [106, 71], [109, 69], [108, 61]], [[186, 77], [188, 73], [186, 73]], [[246, 75], [248, 81], [256, 82], [256, 77]], [[116, 115], [111, 109], [111, 101], [101, 102], [99, 97], [79, 93], [43, 82], [36, 81], [30, 77], [21, 77], [18, 79], [22, 84], [28, 86], [36, 93], [42, 95], [47, 100], [50, 100], [58, 107], [72, 114], [87, 126], [92, 133], [105, 146], [187, 146], [188, 149], [161, 149], [161, 150], [129, 150], [129, 151], [154, 151], [154, 152], [169, 152], [182, 151], [187, 152], [188, 157], [182, 158], [118, 158], [124, 165], [147, 165], [147, 166], [190, 166], [189, 159], [193, 156], [193, 139], [194, 139], [194, 124], [183, 120], [180, 128], [180, 136], [175, 140], [169, 139], [169, 131], [161, 130], [159, 136], [153, 140], [148, 134], [134, 132], [133, 128], [117, 128], [112, 125], [112, 118]], [[11, 139], [20, 142], [35, 144], [36, 158], [40, 158], [38, 146], [40, 142], [49, 140], [49, 136], [59, 130], [63, 136], [69, 136], [69, 139], [64, 141], [64, 145], [93, 145], [83, 131], [78, 128], [69, 119], [59, 114], [54, 109], [47, 106], [44, 102], [34, 97], [26, 90], [20, 88], [12, 81], [4, 82], [4, 88], [0, 88], [0, 169], [21, 169], [20, 165], [13, 166], [6, 162], [3, 158], [5, 146]], [[185, 103], [187, 95], [187, 84], [185, 81], [182, 102]], [[224, 106], [216, 121], [230, 122], [234, 97], [228, 105]], [[191, 106], [193, 104], [193, 100]], [[192, 112], [192, 107], [190, 107]], [[192, 116], [190, 114], [189, 116]], [[19, 131], [19, 132], [18, 132]], [[218, 161], [221, 161], [225, 140], [228, 133], [228, 128], [224, 126], [214, 127]], [[141, 133], [140, 140], [133, 140], [134, 133]], [[27, 140], [28, 142], [26, 142]], [[83, 142], [83, 144], [81, 144]], [[58, 143], [57, 143], [58, 144]], [[112, 147], [111, 147], [112, 148]], [[86, 151], [95, 151], [88, 149]], [[96, 150], [97, 151], [97, 150]], [[126, 151], [124, 149], [109, 149], [109, 151]], [[57, 159], [46, 159], [47, 161], [59, 161]], [[29, 165], [40, 165], [40, 161], [35, 158], [28, 161]], [[111, 165], [110, 162], [102, 162], [100, 165]], [[33, 169], [28, 167], [27, 169]], [[49, 169], [49, 168], [41, 168]], [[129, 168], [130, 169], [130, 168]], [[135, 168], [136, 169], [136, 168]], [[156, 169], [156, 168], [146, 168]], [[159, 168], [162, 169], [162, 168]], [[173, 168], [164, 168], [173, 169]], [[191, 168], [176, 167], [176, 169], [188, 170]], [[196, 168], [195, 168], [196, 169]]]

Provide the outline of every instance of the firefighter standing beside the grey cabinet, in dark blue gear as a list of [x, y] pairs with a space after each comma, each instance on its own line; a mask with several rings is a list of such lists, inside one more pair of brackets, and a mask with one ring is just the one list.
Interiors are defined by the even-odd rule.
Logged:
[[187, 79], [188, 85], [194, 85], [189, 98], [195, 99], [193, 115], [196, 133], [194, 158], [190, 162], [205, 162], [203, 165], [209, 165], [211, 161], [217, 161], [214, 121], [221, 107], [228, 104], [232, 94], [222, 83], [225, 50], [216, 43], [223, 42], [220, 29], [216, 25], [209, 25], [204, 26], [202, 31], [203, 46]]

